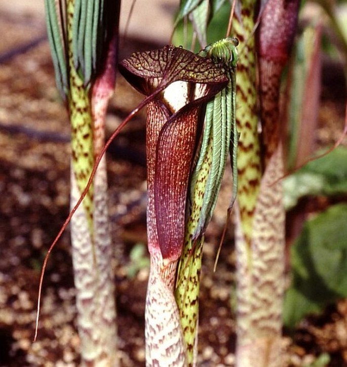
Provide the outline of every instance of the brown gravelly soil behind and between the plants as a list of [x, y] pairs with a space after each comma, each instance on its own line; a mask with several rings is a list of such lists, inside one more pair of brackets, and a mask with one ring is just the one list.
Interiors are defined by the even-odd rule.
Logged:
[[[43, 32], [42, 24], [0, 15], [0, 57], [12, 48], [14, 39], [22, 45], [40, 38]], [[121, 57], [153, 46], [129, 41]], [[324, 136], [325, 142], [331, 142], [343, 124], [345, 96], [329, 98], [335, 88], [331, 88], [331, 80], [325, 81], [318, 140]], [[0, 366], [78, 365], [68, 229], [48, 262], [38, 340], [32, 343], [41, 266], [68, 214], [69, 195], [69, 124], [56, 91], [47, 41], [38, 39], [25, 53], [3, 58], [0, 84]], [[107, 116], [108, 132], [141, 98], [120, 77], [116, 91]], [[326, 121], [334, 124], [329, 126]], [[148, 269], [142, 268], [134, 277], [128, 275], [131, 249], [136, 243], [145, 243], [146, 238], [144, 136], [142, 114], [108, 153], [119, 347], [124, 366], [144, 365]], [[222, 196], [225, 198], [220, 200], [208, 229], [204, 250], [199, 331], [202, 366], [234, 364], [235, 317], [229, 299], [235, 287], [232, 229], [213, 273], [227, 188]], [[327, 352], [331, 366], [347, 365], [346, 333], [347, 302], [341, 301], [323, 315], [304, 320], [292, 339], [284, 337], [288, 364], [310, 363]]]

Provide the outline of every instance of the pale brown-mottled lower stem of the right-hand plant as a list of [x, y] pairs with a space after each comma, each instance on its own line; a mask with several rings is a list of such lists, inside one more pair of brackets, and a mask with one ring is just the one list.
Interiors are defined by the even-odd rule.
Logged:
[[[284, 291], [284, 220], [282, 146], [271, 157], [261, 180], [253, 218], [252, 268], [245, 266], [245, 238], [237, 215], [236, 365], [281, 367]], [[274, 184], [274, 182], [276, 182]]]

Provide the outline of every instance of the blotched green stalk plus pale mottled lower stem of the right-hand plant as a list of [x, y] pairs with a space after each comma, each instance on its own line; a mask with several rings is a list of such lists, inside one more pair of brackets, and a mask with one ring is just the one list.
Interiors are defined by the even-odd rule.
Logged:
[[[240, 40], [238, 105], [240, 132], [239, 190], [236, 210], [237, 251], [237, 366], [281, 366], [281, 311], [283, 298], [284, 210], [282, 186], [274, 182], [283, 175], [282, 147], [278, 127], [265, 139], [269, 144], [267, 165], [261, 167], [258, 136], [257, 86], [254, 37], [255, 2], [242, 3], [242, 26], [234, 20]], [[243, 49], [244, 48], [244, 49]], [[272, 88], [268, 104], [276, 97]], [[275, 102], [276, 103], [276, 102]], [[274, 121], [275, 122], [275, 121]], [[276, 121], [278, 124], [278, 121]]]

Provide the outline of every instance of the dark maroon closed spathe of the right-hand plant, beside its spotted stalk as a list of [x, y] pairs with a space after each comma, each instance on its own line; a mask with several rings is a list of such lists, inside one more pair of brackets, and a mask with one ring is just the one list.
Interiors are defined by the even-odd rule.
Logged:
[[262, 156], [265, 165], [283, 135], [284, 126], [279, 120], [281, 75], [290, 56], [299, 4], [298, 0], [268, 0], [259, 27]]

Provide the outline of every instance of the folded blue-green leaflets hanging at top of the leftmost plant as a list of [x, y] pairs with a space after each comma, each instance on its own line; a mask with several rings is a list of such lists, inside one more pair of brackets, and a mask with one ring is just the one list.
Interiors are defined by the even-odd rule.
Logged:
[[[103, 52], [108, 25], [105, 0], [75, 0], [72, 20], [72, 58], [73, 65], [83, 78], [84, 86], [88, 86], [98, 69], [98, 62]], [[56, 83], [65, 99], [68, 93], [68, 67], [66, 19], [63, 9], [67, 0], [45, 0], [48, 39], [54, 63]]]

